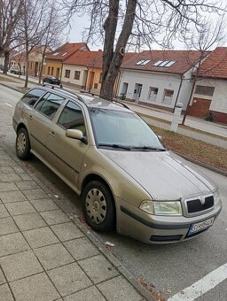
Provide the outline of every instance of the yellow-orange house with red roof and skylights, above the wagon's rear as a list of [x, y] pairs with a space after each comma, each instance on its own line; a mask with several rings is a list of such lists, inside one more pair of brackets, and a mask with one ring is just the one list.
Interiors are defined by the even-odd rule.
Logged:
[[45, 76], [53, 75], [64, 80], [63, 64], [78, 50], [88, 51], [85, 42], [67, 42], [45, 57]]

